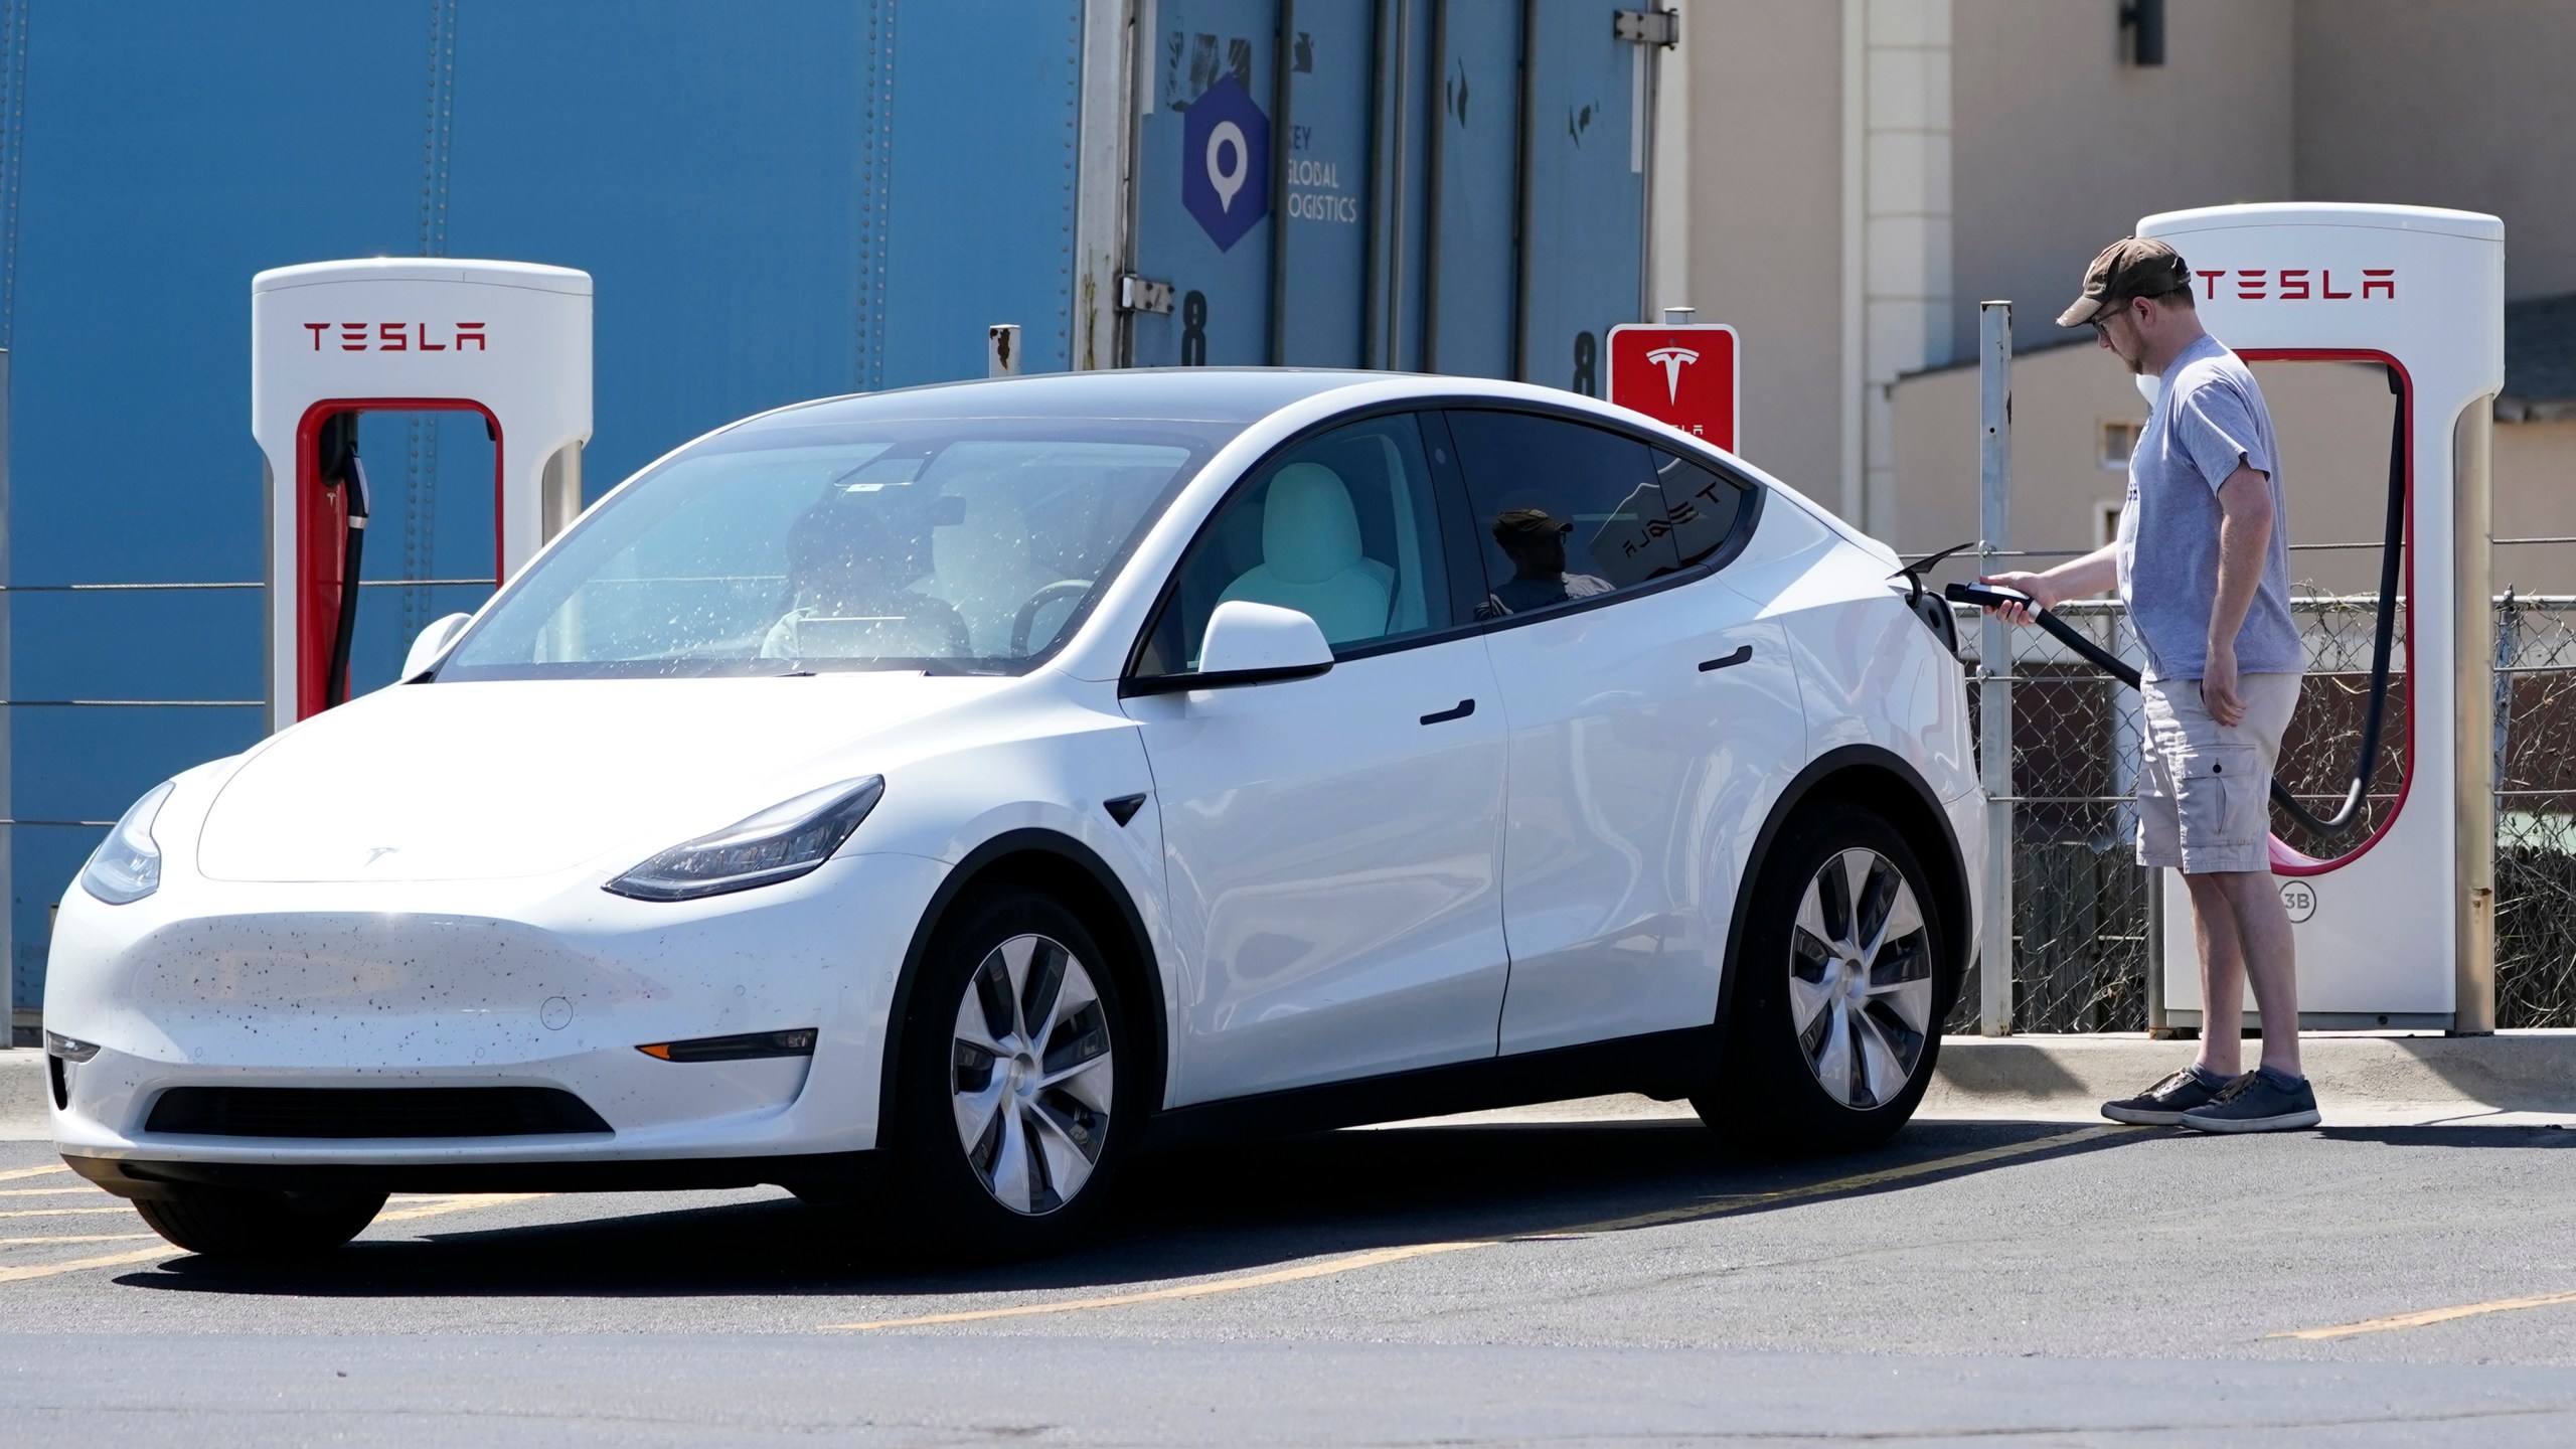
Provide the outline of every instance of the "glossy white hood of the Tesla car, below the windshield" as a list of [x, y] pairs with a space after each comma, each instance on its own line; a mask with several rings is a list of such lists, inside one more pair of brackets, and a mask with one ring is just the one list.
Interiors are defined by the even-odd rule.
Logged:
[[868, 737], [1007, 683], [842, 673], [381, 688], [255, 750], [209, 807], [196, 866], [227, 882], [428, 882], [551, 874], [613, 848], [641, 859], [876, 773]]

